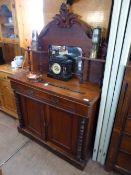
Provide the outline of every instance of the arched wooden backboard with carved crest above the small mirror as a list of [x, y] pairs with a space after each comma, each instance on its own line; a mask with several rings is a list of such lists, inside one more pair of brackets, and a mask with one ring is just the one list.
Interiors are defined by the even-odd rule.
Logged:
[[63, 3], [60, 13], [43, 28], [38, 37], [38, 49], [48, 50], [49, 45], [76, 46], [83, 50], [84, 56], [90, 55], [92, 47], [92, 29], [78, 19], [78, 16], [69, 10]]

